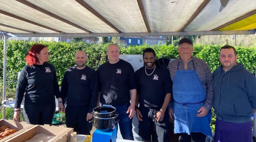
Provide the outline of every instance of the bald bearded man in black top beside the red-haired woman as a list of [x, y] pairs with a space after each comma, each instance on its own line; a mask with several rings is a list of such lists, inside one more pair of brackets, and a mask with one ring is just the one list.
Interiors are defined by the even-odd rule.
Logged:
[[67, 106], [66, 125], [74, 128], [78, 134], [90, 135], [92, 129], [92, 110], [97, 105], [99, 92], [98, 77], [94, 69], [86, 66], [87, 55], [78, 51], [75, 57], [76, 66], [69, 68], [61, 84], [61, 97]]

